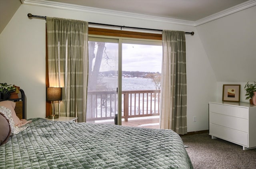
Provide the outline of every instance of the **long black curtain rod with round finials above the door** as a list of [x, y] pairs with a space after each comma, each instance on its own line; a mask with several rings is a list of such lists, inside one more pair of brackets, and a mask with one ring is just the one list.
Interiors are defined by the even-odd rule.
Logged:
[[[28, 14], [28, 18], [43, 18], [46, 20], [46, 16], [37, 16], [37, 15], [32, 15]], [[118, 26], [118, 25], [110, 25], [110, 24], [99, 24], [99, 23], [94, 23], [94, 22], [88, 22], [90, 25], [101, 25], [101, 26], [111, 26], [111, 27], [118, 27], [118, 28], [130, 28], [130, 29], [141, 29], [141, 30], [149, 30], [149, 31], [163, 31], [161, 29], [149, 29], [149, 28], [137, 28], [137, 27], [130, 27], [130, 26]], [[194, 32], [185, 32], [186, 34], [194, 35]]]

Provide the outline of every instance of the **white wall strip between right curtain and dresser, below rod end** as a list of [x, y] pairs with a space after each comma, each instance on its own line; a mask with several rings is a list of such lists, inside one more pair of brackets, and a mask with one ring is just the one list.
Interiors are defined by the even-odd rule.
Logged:
[[188, 132], [208, 130], [208, 102], [216, 98], [216, 78], [199, 37], [186, 39], [186, 48]]

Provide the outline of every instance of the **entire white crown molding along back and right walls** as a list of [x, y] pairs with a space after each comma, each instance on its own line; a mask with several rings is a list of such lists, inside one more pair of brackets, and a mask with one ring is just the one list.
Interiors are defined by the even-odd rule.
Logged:
[[[52, 1], [46, 1], [46, 0], [21, 0], [21, 2], [22, 2], [22, 4], [32, 5], [32, 6], [42, 6], [42, 7], [48, 7], [48, 8], [56, 8], [56, 9], [79, 11], [79, 12], [90, 12], [90, 13], [94, 13], [94, 14], [104, 14], [104, 15], [118, 16], [118, 17], [121, 16], [121, 17], [125, 17], [125, 18], [134, 18], [134, 19], [140, 18], [140, 19], [149, 20], [149, 21], [166, 22], [166, 23], [170, 23], [170, 24], [179, 24], [179, 25], [185, 25], [185, 26], [199, 26], [199, 25], [205, 24], [207, 22], [216, 20], [218, 18], [228, 16], [235, 12], [239, 12], [241, 10], [250, 8], [252, 6], [256, 6], [256, 0], [248, 0], [242, 4], [238, 4], [234, 7], [220, 11], [216, 14], [207, 16], [200, 20], [188, 21], [188, 20], [179, 20], [179, 19], [174, 19], [174, 18], [150, 16], [150, 15], [144, 15], [144, 14], [135, 14], [135, 13], [130, 13], [130, 12], [106, 10], [106, 9], [101, 9], [101, 8], [92, 8], [92, 7], [87, 7], [87, 6], [65, 4], [65, 3], [52, 2]], [[107, 23], [104, 23], [104, 24], [107, 24]]]

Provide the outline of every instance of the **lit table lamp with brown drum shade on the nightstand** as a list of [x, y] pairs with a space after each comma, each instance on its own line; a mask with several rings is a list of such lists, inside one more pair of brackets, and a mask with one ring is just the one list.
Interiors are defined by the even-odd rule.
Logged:
[[46, 100], [53, 102], [52, 115], [48, 118], [59, 118], [59, 115], [54, 114], [55, 101], [62, 100], [61, 87], [47, 87], [46, 88]]

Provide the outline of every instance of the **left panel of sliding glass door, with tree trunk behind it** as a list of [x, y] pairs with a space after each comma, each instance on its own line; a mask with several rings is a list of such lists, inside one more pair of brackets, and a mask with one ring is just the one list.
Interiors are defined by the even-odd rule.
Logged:
[[118, 40], [89, 39], [86, 122], [114, 124], [118, 114]]

